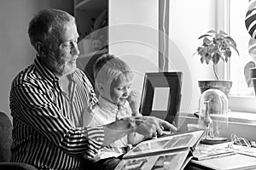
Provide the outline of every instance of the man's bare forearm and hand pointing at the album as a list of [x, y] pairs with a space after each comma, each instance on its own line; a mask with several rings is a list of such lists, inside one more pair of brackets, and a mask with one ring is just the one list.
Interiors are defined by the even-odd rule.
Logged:
[[162, 135], [162, 127], [172, 132], [177, 131], [177, 127], [154, 116], [125, 117], [124, 119], [103, 126], [105, 136], [103, 145], [111, 144], [113, 141], [133, 132], [143, 134], [145, 138]]

